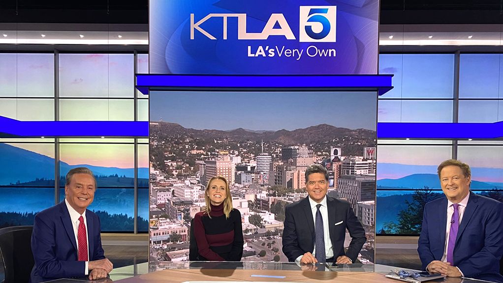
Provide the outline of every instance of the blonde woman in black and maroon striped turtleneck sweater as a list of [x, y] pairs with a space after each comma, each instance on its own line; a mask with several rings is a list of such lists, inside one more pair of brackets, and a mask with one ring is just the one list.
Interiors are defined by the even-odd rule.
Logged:
[[[243, 231], [241, 213], [232, 208], [229, 184], [221, 176], [208, 182], [206, 208], [194, 216], [190, 260], [241, 261]], [[197, 253], [195, 251], [197, 250]]]

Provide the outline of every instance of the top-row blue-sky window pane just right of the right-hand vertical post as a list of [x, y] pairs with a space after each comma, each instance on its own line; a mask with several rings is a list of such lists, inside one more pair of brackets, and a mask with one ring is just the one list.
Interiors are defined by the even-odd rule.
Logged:
[[459, 62], [460, 98], [497, 98], [499, 54], [461, 54]]

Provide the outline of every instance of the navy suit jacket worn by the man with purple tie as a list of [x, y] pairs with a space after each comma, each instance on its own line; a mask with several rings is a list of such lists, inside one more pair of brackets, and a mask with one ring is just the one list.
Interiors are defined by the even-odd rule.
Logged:
[[[426, 204], [417, 252], [423, 269], [433, 260], [442, 260], [445, 251], [447, 198]], [[453, 251], [454, 266], [465, 277], [503, 282], [499, 260], [503, 254], [503, 203], [470, 191], [459, 224]]]

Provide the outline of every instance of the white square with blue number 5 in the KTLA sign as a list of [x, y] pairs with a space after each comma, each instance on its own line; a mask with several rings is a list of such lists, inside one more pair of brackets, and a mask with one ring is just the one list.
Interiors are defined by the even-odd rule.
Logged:
[[336, 42], [337, 6], [301, 6], [300, 42]]

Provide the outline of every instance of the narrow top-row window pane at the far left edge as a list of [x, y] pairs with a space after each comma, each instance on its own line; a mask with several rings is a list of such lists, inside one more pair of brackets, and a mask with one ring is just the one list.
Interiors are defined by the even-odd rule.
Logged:
[[0, 53], [0, 96], [17, 96], [17, 69], [17, 54]]

